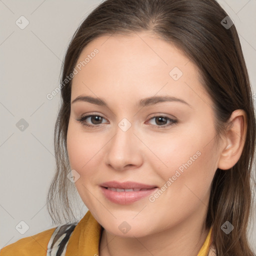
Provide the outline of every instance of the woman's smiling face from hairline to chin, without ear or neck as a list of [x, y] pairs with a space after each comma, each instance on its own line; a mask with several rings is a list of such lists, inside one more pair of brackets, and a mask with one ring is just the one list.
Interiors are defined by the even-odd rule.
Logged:
[[[96, 220], [110, 233], [136, 237], [201, 224], [219, 152], [196, 66], [144, 32], [92, 40], [74, 73], [71, 102], [84, 98], [71, 103], [67, 151]], [[87, 115], [94, 116], [78, 121]]]

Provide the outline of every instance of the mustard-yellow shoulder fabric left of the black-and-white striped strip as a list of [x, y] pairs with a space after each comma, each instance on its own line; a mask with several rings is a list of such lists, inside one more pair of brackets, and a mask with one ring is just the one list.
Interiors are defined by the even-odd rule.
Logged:
[[13, 242], [0, 250], [0, 256], [46, 255], [47, 245], [56, 227], [27, 236]]

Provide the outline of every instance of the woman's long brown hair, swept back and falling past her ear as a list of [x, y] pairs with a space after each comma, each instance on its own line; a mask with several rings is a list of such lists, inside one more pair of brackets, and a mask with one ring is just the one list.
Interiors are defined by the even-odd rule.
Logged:
[[[224, 134], [232, 111], [246, 112], [241, 156], [230, 169], [216, 170], [205, 226], [212, 226], [217, 255], [254, 255], [246, 228], [253, 202], [250, 181], [255, 163], [255, 111], [236, 28], [221, 24], [226, 16], [215, 0], [105, 0], [79, 25], [68, 45], [60, 80], [61, 105], [54, 129], [56, 172], [47, 195], [54, 223], [60, 223], [60, 216], [69, 221], [74, 218], [68, 197], [70, 189], [75, 189], [67, 179], [70, 166], [66, 150], [72, 79], [65, 79], [73, 72], [81, 50], [97, 36], [150, 31], [174, 43], [199, 68], [202, 84], [214, 102], [216, 141]], [[227, 220], [234, 226], [228, 235], [220, 229]]]

